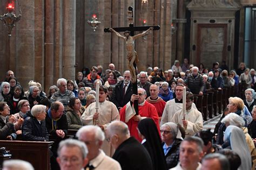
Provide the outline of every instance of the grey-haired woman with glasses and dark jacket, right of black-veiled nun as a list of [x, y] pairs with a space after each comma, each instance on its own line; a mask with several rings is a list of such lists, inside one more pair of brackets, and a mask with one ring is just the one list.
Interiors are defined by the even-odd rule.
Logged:
[[179, 145], [182, 141], [177, 124], [165, 123], [160, 128], [167, 168], [176, 167], [179, 162]]

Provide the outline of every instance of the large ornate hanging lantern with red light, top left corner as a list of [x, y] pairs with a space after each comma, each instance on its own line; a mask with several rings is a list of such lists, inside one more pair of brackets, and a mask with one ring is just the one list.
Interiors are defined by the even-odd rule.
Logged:
[[6, 6], [7, 13], [5, 13], [3, 16], [0, 16], [0, 20], [6, 26], [9, 37], [11, 37], [11, 31], [12, 31], [12, 29], [14, 29], [15, 23], [18, 22], [19, 19], [21, 19], [21, 16], [22, 16], [21, 15], [21, 6], [19, 4], [19, 0], [18, 0], [18, 5], [19, 5], [19, 15], [18, 16], [16, 16], [15, 13], [14, 13], [14, 11], [15, 11], [14, 2], [8, 3], [8, 5]]

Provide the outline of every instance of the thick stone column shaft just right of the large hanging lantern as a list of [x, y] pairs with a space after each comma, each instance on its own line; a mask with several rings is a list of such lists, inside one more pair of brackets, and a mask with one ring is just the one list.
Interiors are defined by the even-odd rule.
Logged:
[[22, 86], [35, 78], [35, 1], [22, 1], [22, 19], [16, 24], [16, 76]]

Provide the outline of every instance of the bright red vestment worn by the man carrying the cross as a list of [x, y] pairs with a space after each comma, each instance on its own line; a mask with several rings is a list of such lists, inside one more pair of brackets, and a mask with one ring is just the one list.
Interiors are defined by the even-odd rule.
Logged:
[[[125, 117], [127, 117], [127, 114], [129, 113], [126, 113], [126, 107], [131, 107], [131, 105], [128, 103], [126, 104], [121, 110], [120, 110], [120, 120], [123, 121], [124, 123], [126, 123], [129, 127], [129, 131], [130, 131], [130, 134], [132, 137], [136, 138], [138, 141], [142, 141], [142, 139], [139, 137], [139, 134], [138, 134], [138, 130], [137, 130], [137, 127], [138, 127], [138, 121], [134, 121], [133, 120], [133, 116], [135, 115], [135, 112], [133, 112], [133, 116], [129, 119], [129, 121], [125, 122]], [[133, 108], [134, 110], [134, 108]], [[154, 123], [156, 124], [157, 126], [157, 129], [158, 129], [158, 132], [159, 132], [159, 135], [160, 135], [160, 128], [159, 128], [159, 117], [158, 117], [158, 114], [157, 114], [157, 110], [156, 110], [156, 107], [154, 107], [152, 104], [148, 103], [147, 101], [145, 101], [144, 105], [143, 106], [139, 106], [139, 115], [140, 117], [146, 117], [146, 118], [151, 118], [154, 120]]]

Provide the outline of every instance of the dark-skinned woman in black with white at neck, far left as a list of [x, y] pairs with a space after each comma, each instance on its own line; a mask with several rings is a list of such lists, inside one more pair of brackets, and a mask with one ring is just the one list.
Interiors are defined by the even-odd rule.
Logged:
[[15, 85], [13, 87], [13, 92], [11, 93], [11, 96], [4, 99], [4, 101], [6, 101], [6, 103], [10, 107], [10, 110], [11, 110], [10, 114], [15, 114], [19, 112], [18, 102], [23, 99], [26, 99], [26, 98], [24, 97], [24, 91], [22, 89], [22, 86]]

